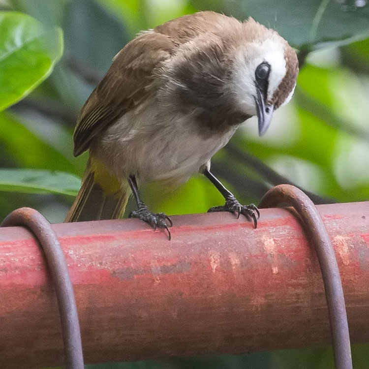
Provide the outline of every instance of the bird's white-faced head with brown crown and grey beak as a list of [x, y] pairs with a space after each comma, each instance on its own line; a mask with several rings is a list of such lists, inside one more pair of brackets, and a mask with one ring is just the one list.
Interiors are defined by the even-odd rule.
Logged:
[[257, 115], [262, 136], [273, 112], [292, 97], [298, 60], [295, 50], [276, 31], [252, 18], [243, 27], [243, 40], [234, 50], [231, 91], [245, 114]]

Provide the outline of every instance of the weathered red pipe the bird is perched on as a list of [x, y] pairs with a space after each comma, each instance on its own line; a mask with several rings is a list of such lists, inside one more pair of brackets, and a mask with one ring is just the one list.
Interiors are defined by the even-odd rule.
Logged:
[[[369, 342], [369, 202], [320, 205], [338, 256], [352, 342]], [[172, 241], [137, 219], [55, 224], [87, 363], [241, 353], [330, 342], [321, 272], [288, 210], [258, 228], [232, 214], [173, 216]], [[62, 363], [41, 252], [0, 229], [1, 368]]]

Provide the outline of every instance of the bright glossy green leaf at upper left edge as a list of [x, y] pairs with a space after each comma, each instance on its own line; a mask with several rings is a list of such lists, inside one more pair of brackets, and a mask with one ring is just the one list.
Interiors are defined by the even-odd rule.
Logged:
[[46, 29], [26, 14], [0, 12], [0, 111], [47, 78], [62, 50], [59, 28]]

